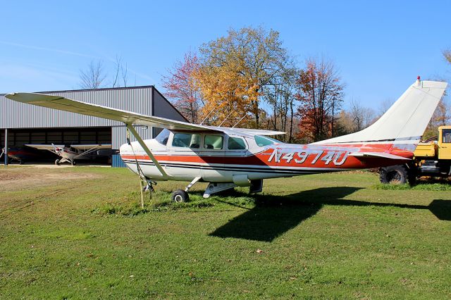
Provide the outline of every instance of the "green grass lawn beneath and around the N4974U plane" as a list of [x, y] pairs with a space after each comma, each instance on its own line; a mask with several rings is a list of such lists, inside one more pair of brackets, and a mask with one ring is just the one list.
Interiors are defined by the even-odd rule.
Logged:
[[125, 169], [0, 168], [50, 173], [89, 177], [0, 186], [0, 299], [451, 297], [447, 187], [308, 175], [175, 204], [161, 182], [142, 209]]

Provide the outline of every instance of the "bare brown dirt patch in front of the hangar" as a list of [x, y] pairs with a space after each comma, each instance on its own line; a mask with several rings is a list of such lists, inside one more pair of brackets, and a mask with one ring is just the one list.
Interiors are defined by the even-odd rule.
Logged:
[[87, 180], [100, 177], [101, 175], [92, 173], [61, 173], [57, 169], [50, 171], [33, 167], [3, 169], [0, 170], [0, 192], [32, 189], [56, 185], [68, 180]]

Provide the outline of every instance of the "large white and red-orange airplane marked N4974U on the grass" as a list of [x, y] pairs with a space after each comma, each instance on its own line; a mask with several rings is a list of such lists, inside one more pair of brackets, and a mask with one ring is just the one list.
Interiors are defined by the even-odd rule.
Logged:
[[[172, 196], [174, 201], [186, 201], [190, 187], [200, 181], [209, 182], [204, 197], [237, 186], [261, 192], [267, 178], [377, 168], [412, 159], [446, 86], [446, 82], [418, 79], [373, 125], [350, 135], [305, 145], [266, 137], [284, 132], [197, 125], [61, 96], [13, 93], [6, 97], [125, 123], [137, 139], [128, 139], [121, 146], [121, 158], [127, 167], [146, 180], [151, 190], [152, 183], [158, 180], [190, 181]], [[155, 139], [143, 141], [133, 125], [165, 130]]]

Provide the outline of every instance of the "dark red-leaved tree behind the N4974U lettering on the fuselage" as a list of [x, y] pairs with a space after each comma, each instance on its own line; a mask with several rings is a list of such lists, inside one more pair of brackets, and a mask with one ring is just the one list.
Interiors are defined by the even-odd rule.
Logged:
[[297, 76], [296, 98], [300, 102], [300, 137], [316, 142], [335, 136], [336, 115], [343, 102], [345, 85], [331, 61], [308, 58]]

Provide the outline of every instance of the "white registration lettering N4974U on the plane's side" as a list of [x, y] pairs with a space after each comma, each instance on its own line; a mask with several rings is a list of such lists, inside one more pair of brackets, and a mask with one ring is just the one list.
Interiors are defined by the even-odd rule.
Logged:
[[[324, 155], [323, 155], [324, 154]], [[280, 152], [278, 149], [274, 149], [271, 156], [269, 156], [268, 162], [274, 161], [280, 163], [280, 160], [285, 160], [286, 163], [295, 161], [295, 163], [304, 163], [309, 156], [314, 158], [311, 160], [311, 164], [314, 165], [317, 161], [323, 161], [325, 165], [328, 165], [330, 161], [334, 165], [342, 165], [345, 163], [350, 151], [322, 151], [322, 150], [302, 150], [291, 152]], [[321, 157], [322, 156], [322, 157]]]

